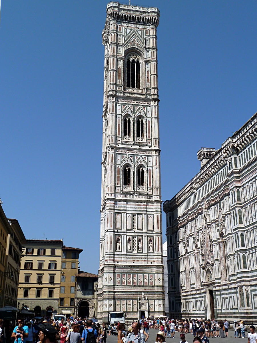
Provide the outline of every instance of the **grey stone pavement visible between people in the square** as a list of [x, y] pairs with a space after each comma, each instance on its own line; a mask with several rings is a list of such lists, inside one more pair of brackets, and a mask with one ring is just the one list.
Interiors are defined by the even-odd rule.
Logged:
[[[126, 325], [126, 328], [128, 326]], [[155, 343], [156, 339], [156, 333], [159, 330], [154, 330], [150, 329], [149, 330], [149, 338], [147, 340], [147, 343]], [[215, 338], [209, 338], [210, 343], [247, 343], [247, 333], [245, 334], [245, 338], [234, 338], [234, 331], [230, 330], [229, 331], [229, 337], [228, 338], [220, 338], [220, 337], [215, 337]], [[191, 335], [191, 333], [186, 333], [186, 340], [188, 343], [193, 343], [194, 336]], [[175, 332], [175, 338], [166, 338], [166, 343], [180, 343], [180, 333]], [[107, 335], [106, 343], [118, 343], [118, 337], [114, 335]]]

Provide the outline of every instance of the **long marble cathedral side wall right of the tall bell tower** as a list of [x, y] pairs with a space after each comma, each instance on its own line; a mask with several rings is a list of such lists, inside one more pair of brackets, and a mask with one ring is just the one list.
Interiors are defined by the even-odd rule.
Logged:
[[257, 316], [257, 113], [197, 157], [200, 172], [163, 204], [169, 311], [249, 322]]

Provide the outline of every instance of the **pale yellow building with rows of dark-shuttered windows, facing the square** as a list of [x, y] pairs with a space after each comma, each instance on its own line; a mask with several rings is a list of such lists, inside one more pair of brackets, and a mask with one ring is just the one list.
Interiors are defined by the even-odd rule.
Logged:
[[38, 316], [59, 313], [62, 240], [27, 239], [23, 248], [17, 300]]

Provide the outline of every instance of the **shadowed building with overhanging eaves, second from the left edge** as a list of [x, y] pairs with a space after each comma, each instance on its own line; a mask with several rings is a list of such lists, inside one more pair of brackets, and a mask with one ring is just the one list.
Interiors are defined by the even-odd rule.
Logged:
[[7, 236], [3, 305], [16, 307], [22, 244], [26, 243], [26, 239], [17, 219], [8, 219], [8, 221], [11, 234]]

